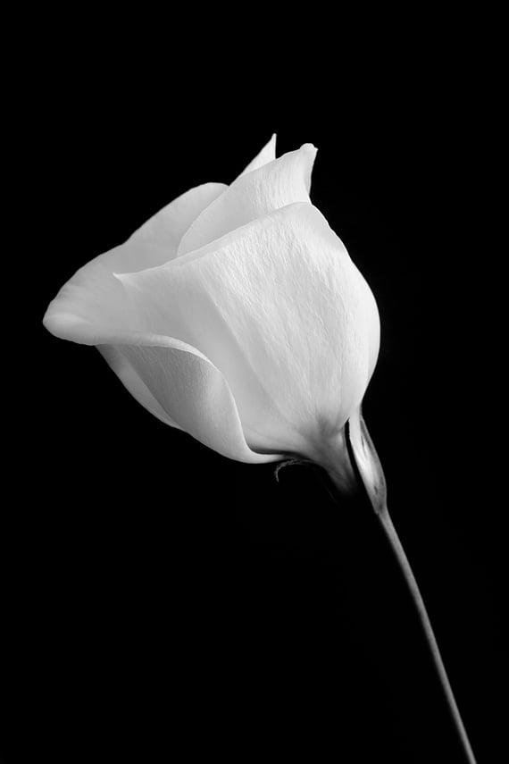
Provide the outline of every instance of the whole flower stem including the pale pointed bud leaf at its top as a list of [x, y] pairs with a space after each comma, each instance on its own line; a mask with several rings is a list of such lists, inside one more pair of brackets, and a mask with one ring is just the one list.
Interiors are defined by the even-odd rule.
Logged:
[[463, 726], [463, 720], [460, 716], [455, 696], [446, 674], [446, 667], [444, 666], [444, 661], [438, 650], [438, 643], [431, 626], [430, 617], [424, 605], [424, 600], [422, 600], [419, 586], [413, 575], [413, 570], [410, 567], [403, 545], [399, 540], [396, 528], [388, 514], [385, 477], [380, 464], [380, 459], [373, 446], [360, 409], [346, 426], [346, 441], [348, 445], [348, 453], [357, 473], [358, 481], [363, 486], [367, 497], [370, 500], [371, 507], [380, 521], [380, 525], [394, 552], [399, 568], [412, 596], [413, 604], [421, 622], [421, 627], [438, 673], [438, 679], [446, 697], [447, 706], [453, 718], [457, 734], [463, 745], [466, 760], [469, 764], [476, 764], [473, 751], [471, 750], [471, 744]]

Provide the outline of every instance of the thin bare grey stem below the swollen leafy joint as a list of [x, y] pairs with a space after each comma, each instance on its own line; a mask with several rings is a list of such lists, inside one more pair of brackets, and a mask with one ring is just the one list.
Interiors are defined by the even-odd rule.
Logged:
[[388, 542], [390, 543], [390, 546], [395, 554], [399, 567], [401, 568], [401, 571], [405, 577], [405, 581], [410, 590], [410, 593], [412, 594], [413, 603], [419, 615], [422, 630], [426, 635], [431, 657], [435, 664], [435, 668], [437, 669], [440, 684], [442, 685], [442, 689], [446, 695], [447, 705], [455, 722], [457, 733], [463, 743], [466, 758], [469, 761], [469, 764], [476, 764], [473, 751], [471, 750], [471, 744], [463, 726], [463, 720], [460, 716], [460, 712], [455, 701], [455, 696], [446, 674], [446, 667], [444, 666], [444, 661], [442, 660], [442, 656], [438, 650], [437, 638], [433, 632], [428, 611], [424, 605], [424, 600], [422, 600], [419, 586], [417, 585], [415, 576], [413, 575], [413, 571], [410, 567], [410, 563], [408, 562], [408, 558], [406, 557], [405, 550], [403, 549], [403, 545], [399, 540], [399, 537], [396, 533], [396, 528], [392, 523], [387, 509], [384, 512], [377, 513], [377, 516], [380, 520], [380, 525], [386, 534]]

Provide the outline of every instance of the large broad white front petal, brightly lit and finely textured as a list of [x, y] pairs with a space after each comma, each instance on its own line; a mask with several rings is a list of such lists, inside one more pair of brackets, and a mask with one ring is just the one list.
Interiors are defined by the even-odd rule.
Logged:
[[141, 331], [178, 337], [221, 370], [253, 448], [309, 452], [360, 404], [378, 350], [378, 311], [310, 204], [118, 278]]

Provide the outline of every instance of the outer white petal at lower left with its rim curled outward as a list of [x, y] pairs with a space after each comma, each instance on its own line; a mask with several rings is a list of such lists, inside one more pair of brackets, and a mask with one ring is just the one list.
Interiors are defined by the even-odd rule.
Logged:
[[172, 337], [139, 331], [129, 295], [104, 268], [82, 268], [50, 304], [44, 323], [57, 337], [99, 346], [129, 392], [165, 424], [238, 461], [281, 458], [273, 450], [261, 454], [248, 447], [229, 384], [203, 353]]

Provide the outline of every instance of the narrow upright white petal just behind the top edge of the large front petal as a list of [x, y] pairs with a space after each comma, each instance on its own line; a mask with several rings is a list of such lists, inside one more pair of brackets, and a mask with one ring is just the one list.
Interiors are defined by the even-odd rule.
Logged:
[[316, 148], [306, 143], [238, 177], [196, 217], [179, 244], [178, 256], [219, 239], [256, 218], [294, 202], [308, 202]]

